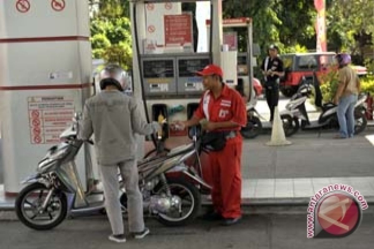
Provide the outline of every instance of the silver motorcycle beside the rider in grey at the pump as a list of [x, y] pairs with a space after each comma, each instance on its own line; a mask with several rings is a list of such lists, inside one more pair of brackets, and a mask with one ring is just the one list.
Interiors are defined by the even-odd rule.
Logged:
[[[102, 191], [85, 191], [77, 172], [77, 153], [83, 144], [93, 144], [77, 138], [78, 121], [79, 115], [76, 115], [73, 125], [60, 135], [62, 142], [52, 146], [37, 165], [37, 173], [22, 182], [25, 187], [16, 198], [15, 209], [19, 220], [30, 228], [49, 230], [64, 221], [68, 214], [104, 209]], [[201, 151], [197, 132], [192, 138], [190, 144], [138, 162], [144, 211], [167, 226], [193, 221], [200, 210], [201, 194], [211, 190], [200, 178]], [[194, 164], [187, 165], [191, 159], [195, 159]], [[126, 190], [120, 175], [119, 182], [119, 201], [126, 212]]]

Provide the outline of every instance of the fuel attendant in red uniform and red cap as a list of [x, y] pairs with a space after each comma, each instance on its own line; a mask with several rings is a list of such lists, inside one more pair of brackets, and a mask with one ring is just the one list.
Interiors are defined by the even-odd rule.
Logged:
[[240, 129], [246, 125], [246, 106], [242, 96], [223, 83], [223, 72], [219, 66], [208, 65], [197, 74], [203, 77], [206, 89], [199, 107], [190, 120], [175, 121], [172, 125], [190, 127], [205, 118], [205, 130], [214, 134], [221, 133], [225, 137], [226, 145], [222, 150], [209, 152], [214, 208], [205, 217], [220, 219], [223, 225], [232, 225], [242, 215], [240, 165], [243, 140]]

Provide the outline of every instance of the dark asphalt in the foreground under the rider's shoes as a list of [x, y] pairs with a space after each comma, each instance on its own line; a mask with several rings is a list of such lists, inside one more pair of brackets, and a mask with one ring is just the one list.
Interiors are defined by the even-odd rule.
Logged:
[[0, 221], [0, 248], [236, 248], [236, 249], [366, 249], [374, 244], [374, 216], [364, 213], [362, 224], [343, 239], [307, 239], [306, 215], [246, 215], [240, 224], [221, 227], [198, 219], [187, 227], [164, 227], [146, 221], [151, 234], [143, 240], [116, 244], [107, 240], [104, 216], [67, 220], [51, 231], [34, 231], [17, 221]]

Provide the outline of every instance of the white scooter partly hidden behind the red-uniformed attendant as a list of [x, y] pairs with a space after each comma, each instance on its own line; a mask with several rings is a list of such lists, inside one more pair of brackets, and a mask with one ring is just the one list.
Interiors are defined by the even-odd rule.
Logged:
[[262, 124], [260, 119], [264, 119], [260, 113], [255, 109], [257, 99], [249, 102], [246, 105], [247, 110], [247, 124], [240, 130], [244, 138], [255, 138], [262, 132]]

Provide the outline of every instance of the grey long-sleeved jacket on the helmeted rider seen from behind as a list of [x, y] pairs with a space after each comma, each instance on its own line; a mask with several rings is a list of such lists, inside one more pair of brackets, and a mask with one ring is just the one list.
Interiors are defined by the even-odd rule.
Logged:
[[157, 124], [148, 124], [134, 98], [119, 91], [102, 91], [86, 100], [79, 137], [95, 134], [98, 164], [117, 164], [137, 158], [135, 133], [149, 135]]

